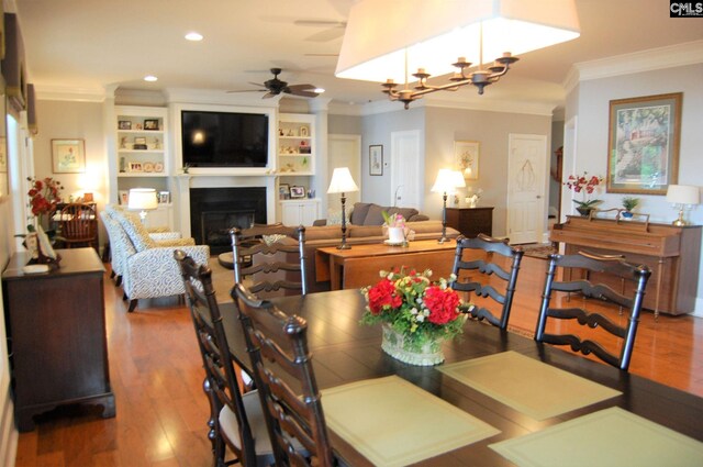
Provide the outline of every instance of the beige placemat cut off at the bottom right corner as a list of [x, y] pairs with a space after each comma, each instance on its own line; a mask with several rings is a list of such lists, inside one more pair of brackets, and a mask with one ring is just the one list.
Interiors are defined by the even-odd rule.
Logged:
[[703, 466], [703, 443], [616, 407], [490, 447], [520, 467]]

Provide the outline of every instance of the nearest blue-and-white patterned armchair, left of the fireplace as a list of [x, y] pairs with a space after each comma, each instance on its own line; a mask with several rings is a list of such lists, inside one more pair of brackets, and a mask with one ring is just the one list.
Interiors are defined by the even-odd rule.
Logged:
[[111, 215], [103, 221], [111, 245], [114, 242], [113, 268], [118, 268], [115, 274], [121, 273], [124, 298], [130, 300], [129, 311], [134, 311], [138, 299], [185, 293], [174, 248], [182, 249], [199, 264], [207, 264], [210, 247], [196, 245], [193, 238], [180, 238], [180, 234], [174, 232], [149, 234], [134, 214], [114, 207], [108, 211]]

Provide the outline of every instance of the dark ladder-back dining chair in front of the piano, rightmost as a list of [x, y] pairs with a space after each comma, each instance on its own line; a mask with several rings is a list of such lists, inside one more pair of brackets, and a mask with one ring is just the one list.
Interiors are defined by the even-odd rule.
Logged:
[[[602, 256], [584, 252], [576, 255], [550, 255], [535, 341], [569, 345], [573, 352], [593, 354], [626, 371], [650, 275], [647, 266], [635, 266], [614, 255]], [[562, 280], [558, 280], [558, 277]], [[583, 300], [574, 294], [581, 294]], [[589, 307], [590, 303], [592, 307]], [[587, 311], [587, 307], [593, 310]], [[618, 316], [617, 319], [606, 315], [611, 309], [613, 316]], [[628, 315], [622, 315], [623, 309], [629, 310]], [[573, 326], [566, 326], [565, 323], [555, 325], [548, 333], [547, 322], [551, 320], [576, 320], [581, 326], [600, 327], [601, 342], [598, 342], [595, 332], [577, 336], [573, 334]], [[625, 323], [618, 324], [614, 320]], [[604, 337], [612, 341], [613, 336], [617, 345], [606, 345]]]

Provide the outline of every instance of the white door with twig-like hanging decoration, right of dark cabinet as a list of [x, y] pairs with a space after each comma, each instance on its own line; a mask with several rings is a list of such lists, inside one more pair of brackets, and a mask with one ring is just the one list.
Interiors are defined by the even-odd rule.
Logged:
[[547, 136], [511, 134], [507, 160], [507, 236], [511, 244], [542, 242], [547, 187]]

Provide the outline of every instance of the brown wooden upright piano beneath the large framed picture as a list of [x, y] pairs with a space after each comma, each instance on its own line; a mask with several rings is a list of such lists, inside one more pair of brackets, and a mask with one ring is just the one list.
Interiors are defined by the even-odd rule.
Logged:
[[[674, 226], [612, 219], [567, 216], [553, 226], [549, 240], [566, 245], [566, 254], [588, 251], [624, 255], [647, 265], [651, 277], [645, 308], [667, 314], [695, 308], [701, 258], [701, 226]], [[617, 286], [616, 286], [617, 287]]]

